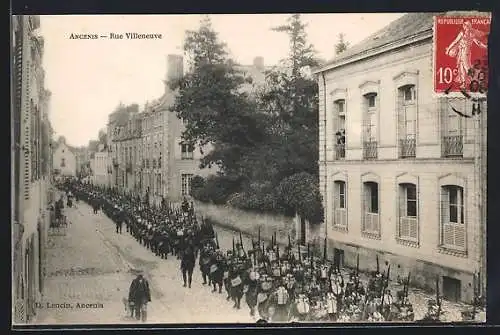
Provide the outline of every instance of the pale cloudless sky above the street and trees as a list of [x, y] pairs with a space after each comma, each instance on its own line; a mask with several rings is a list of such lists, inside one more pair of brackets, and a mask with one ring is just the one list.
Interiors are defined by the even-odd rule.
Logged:
[[[308, 40], [322, 59], [334, 56], [339, 33], [351, 45], [363, 40], [402, 14], [303, 14]], [[219, 38], [240, 64], [264, 57], [275, 65], [287, 56], [286, 34], [272, 27], [286, 23], [285, 14], [211, 15]], [[87, 145], [106, 127], [118, 104], [161, 97], [166, 56], [183, 54], [186, 30], [196, 30], [200, 15], [59, 15], [41, 16], [45, 38], [45, 86], [52, 92], [50, 119], [55, 137], [70, 145]], [[162, 34], [155, 40], [70, 39], [74, 34]]]

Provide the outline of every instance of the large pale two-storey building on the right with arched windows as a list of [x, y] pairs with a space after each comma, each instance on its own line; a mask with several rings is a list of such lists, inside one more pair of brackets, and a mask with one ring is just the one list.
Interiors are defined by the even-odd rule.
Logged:
[[[433, 14], [407, 14], [317, 70], [330, 254], [470, 302], [481, 269], [474, 119], [433, 95]], [[485, 106], [483, 111], [485, 110]], [[485, 273], [482, 274], [485, 276]]]

